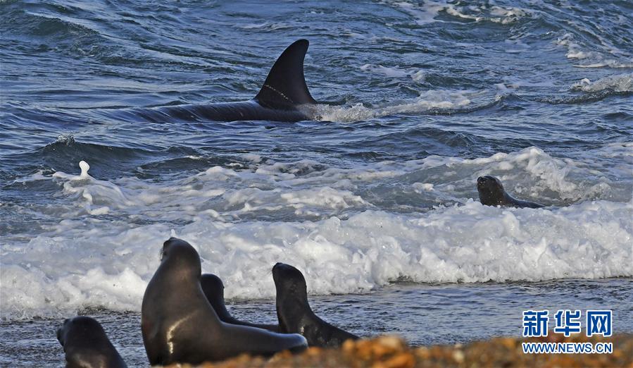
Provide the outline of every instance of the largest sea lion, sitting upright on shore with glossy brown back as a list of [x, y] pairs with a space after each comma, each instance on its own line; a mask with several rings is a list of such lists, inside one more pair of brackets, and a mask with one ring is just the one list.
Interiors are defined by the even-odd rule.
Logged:
[[200, 256], [184, 240], [163, 243], [161, 265], [147, 285], [141, 329], [150, 364], [224, 360], [242, 353], [273, 355], [308, 346], [299, 334], [282, 334], [220, 321], [200, 286]]

